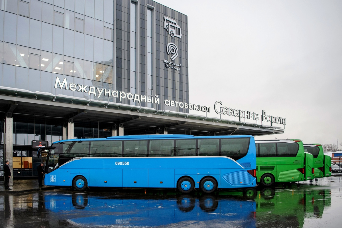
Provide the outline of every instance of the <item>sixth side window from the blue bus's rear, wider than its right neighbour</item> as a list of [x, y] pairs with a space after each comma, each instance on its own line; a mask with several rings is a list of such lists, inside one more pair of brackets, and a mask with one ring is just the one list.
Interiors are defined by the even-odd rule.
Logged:
[[121, 157], [122, 141], [92, 141], [90, 154], [93, 157]]

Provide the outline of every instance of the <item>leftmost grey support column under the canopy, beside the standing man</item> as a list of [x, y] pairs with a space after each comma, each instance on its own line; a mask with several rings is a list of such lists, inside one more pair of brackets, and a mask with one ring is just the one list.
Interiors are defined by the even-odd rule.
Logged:
[[11, 177], [9, 186], [13, 186], [13, 117], [12, 113], [7, 113], [4, 124], [4, 160], [10, 161]]

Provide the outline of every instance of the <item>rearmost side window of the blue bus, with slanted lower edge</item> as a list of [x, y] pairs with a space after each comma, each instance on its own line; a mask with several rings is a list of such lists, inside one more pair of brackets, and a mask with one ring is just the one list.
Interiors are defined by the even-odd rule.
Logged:
[[221, 155], [238, 160], [248, 152], [249, 138], [221, 139]]

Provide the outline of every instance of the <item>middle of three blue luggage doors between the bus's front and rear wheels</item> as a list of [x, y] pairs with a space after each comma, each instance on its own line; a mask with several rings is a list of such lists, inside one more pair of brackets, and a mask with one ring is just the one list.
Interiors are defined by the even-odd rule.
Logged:
[[129, 188], [147, 188], [148, 187], [148, 169], [123, 169], [122, 187]]

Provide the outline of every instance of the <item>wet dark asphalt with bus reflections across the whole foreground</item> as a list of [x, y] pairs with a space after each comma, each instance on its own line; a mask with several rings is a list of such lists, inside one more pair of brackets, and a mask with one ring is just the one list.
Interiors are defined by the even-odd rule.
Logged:
[[0, 193], [0, 227], [341, 227], [342, 176], [182, 195], [174, 189]]

